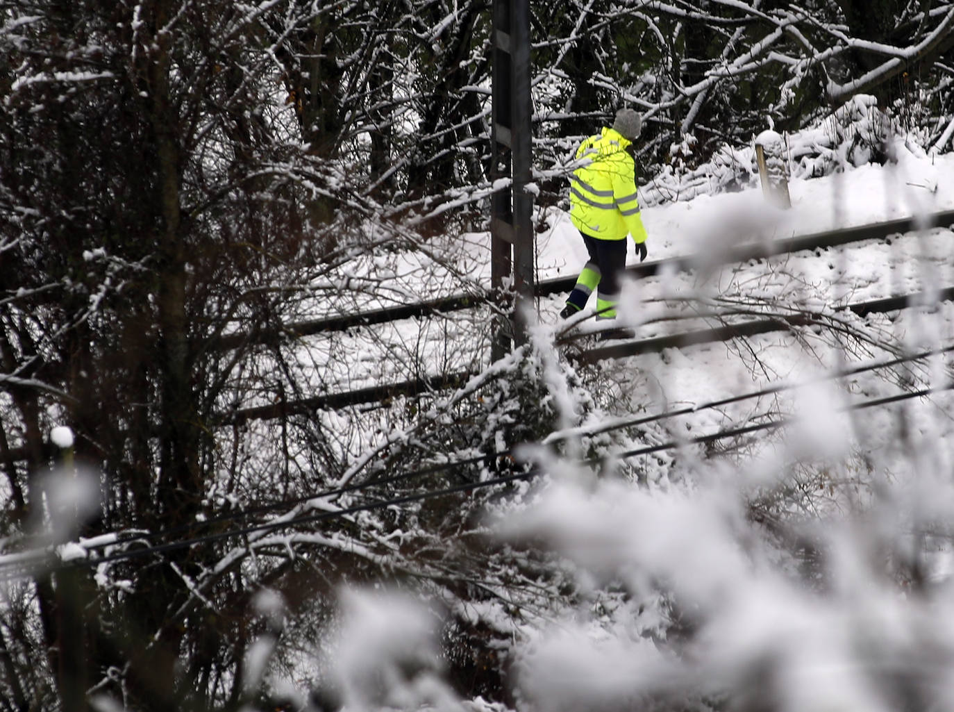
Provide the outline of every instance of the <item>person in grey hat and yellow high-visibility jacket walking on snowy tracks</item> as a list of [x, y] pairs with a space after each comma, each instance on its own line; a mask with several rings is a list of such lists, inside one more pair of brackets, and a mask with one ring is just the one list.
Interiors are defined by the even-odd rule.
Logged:
[[[604, 127], [576, 150], [586, 160], [570, 177], [570, 220], [586, 244], [590, 259], [560, 312], [564, 319], [581, 311], [596, 291], [596, 319], [616, 318], [619, 276], [626, 267], [626, 236], [633, 236], [639, 262], [646, 259], [646, 228], [636, 200], [635, 161], [630, 149], [642, 130], [633, 109], [616, 112], [612, 127]], [[601, 339], [633, 336], [630, 329], [611, 328]]]

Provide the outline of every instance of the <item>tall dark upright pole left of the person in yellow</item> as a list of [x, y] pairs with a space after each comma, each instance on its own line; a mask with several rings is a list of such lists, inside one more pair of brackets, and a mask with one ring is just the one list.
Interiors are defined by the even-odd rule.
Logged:
[[533, 196], [530, 174], [529, 0], [493, 0], [493, 94], [490, 179], [490, 279], [500, 295], [512, 287], [516, 304], [497, 325], [491, 357], [508, 352], [511, 338], [527, 339], [523, 312], [533, 299]]

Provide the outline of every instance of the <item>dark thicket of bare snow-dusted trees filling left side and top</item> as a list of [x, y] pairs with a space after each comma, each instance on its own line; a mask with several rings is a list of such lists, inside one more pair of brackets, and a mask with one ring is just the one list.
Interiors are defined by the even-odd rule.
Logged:
[[[680, 158], [690, 145], [705, 157], [770, 120], [796, 128], [855, 92], [876, 94], [932, 142], [954, 118], [954, 6], [936, 0], [531, 5], [544, 201], [561, 195], [571, 145], [624, 104], [647, 118], [646, 176], [680, 146]], [[282, 323], [355, 308], [369, 293], [408, 299], [375, 294], [373, 274], [342, 278], [342, 264], [386, 264], [411, 244], [439, 256], [435, 235], [486, 226], [489, 34], [476, 0], [0, 3], [7, 552], [35, 548], [31, 535], [57, 516], [44, 498], [56, 424], [73, 429], [102, 502], [61, 534], [139, 533], [147, 544], [148, 533], [235, 528], [201, 526], [232, 509], [548, 431], [549, 408], [537, 408], [539, 422], [520, 414], [541, 402], [536, 387], [493, 373], [377, 428], [366, 414], [360, 425], [334, 413], [234, 417], [321, 391], [332, 363], [350, 358], [334, 346], [302, 358]], [[449, 266], [442, 279], [471, 286]], [[483, 363], [480, 349], [454, 347]], [[407, 371], [420, 368], [420, 352], [392, 348]], [[487, 385], [490, 395], [469, 397]], [[453, 476], [512, 467], [477, 457]], [[440, 485], [444, 475], [431, 475], [259, 518], [340, 513]], [[504, 698], [500, 634], [465, 604], [506, 596], [515, 612], [542, 609], [536, 586], [555, 575], [535, 555], [475, 543], [480, 503], [448, 495], [98, 571], [37, 566], [0, 606], [0, 710], [85, 709], [96, 695], [129, 709], [237, 709], [261, 692], [248, 662], [257, 639], [292, 637], [284, 655], [294, 659], [342, 579], [382, 577], [443, 597], [464, 641], [449, 656], [452, 678], [464, 694]], [[264, 588], [284, 595], [286, 628], [256, 614]]]

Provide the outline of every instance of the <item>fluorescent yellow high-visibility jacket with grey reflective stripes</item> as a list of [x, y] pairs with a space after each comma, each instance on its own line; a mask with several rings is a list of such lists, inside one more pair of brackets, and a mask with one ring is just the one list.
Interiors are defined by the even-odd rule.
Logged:
[[598, 240], [645, 242], [646, 228], [636, 201], [635, 163], [626, 150], [633, 143], [609, 128], [590, 136], [576, 150], [591, 161], [570, 178], [570, 220]]

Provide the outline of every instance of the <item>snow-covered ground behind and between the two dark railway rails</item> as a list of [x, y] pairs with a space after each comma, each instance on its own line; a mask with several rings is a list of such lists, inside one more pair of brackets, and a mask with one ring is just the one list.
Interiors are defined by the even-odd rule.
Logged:
[[[751, 241], [773, 241], [840, 227], [863, 225], [903, 217], [919, 217], [954, 209], [954, 157], [925, 156], [898, 139], [895, 162], [885, 165], [846, 164], [843, 172], [822, 178], [798, 178], [798, 165], [790, 166], [792, 207], [772, 206], [752, 184], [737, 192], [698, 195], [695, 199], [644, 204], [643, 220], [650, 235], [649, 259], [684, 255], [708, 257], [713, 269], [704, 275], [662, 274], [624, 287], [620, 321], [636, 327], [637, 336], [677, 333], [699, 325], [687, 317], [711, 310], [713, 300], [723, 307], [772, 301], [795, 307], [832, 309], [840, 304], [913, 293], [954, 284], [947, 260], [952, 233], [925, 229], [890, 241], [866, 241], [825, 250], [779, 255], [757, 263], [722, 264], [727, 248]], [[653, 199], [659, 191], [653, 189]], [[650, 191], [648, 191], [650, 192]], [[543, 210], [548, 229], [537, 235], [538, 279], [575, 276], [587, 260], [583, 241], [569, 215], [559, 208]], [[458, 275], [469, 283], [488, 285], [489, 235], [459, 238]], [[636, 262], [632, 250], [630, 264]], [[431, 296], [461, 291], [459, 277], [435, 279], [429, 257], [399, 254], [354, 265], [350, 275], [372, 276], [380, 281], [380, 299], [359, 295], [355, 303], [333, 305], [341, 311], [409, 304]], [[426, 272], [427, 283], [420, 282]], [[536, 319], [555, 332], [556, 314], [564, 295], [538, 302]], [[592, 304], [591, 304], [592, 306]], [[315, 364], [316, 391], [339, 392], [380, 383], [400, 382], [425, 373], [476, 369], [487, 363], [487, 349], [473, 347], [475, 329], [483, 328], [484, 345], [489, 327], [485, 315], [450, 313], [443, 319], [407, 320], [363, 330], [315, 337], [307, 341], [301, 367]], [[587, 328], [586, 325], [583, 326]], [[344, 358], [343, 355], [347, 354]]]

